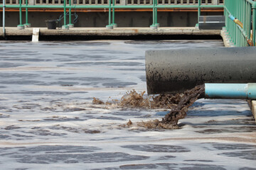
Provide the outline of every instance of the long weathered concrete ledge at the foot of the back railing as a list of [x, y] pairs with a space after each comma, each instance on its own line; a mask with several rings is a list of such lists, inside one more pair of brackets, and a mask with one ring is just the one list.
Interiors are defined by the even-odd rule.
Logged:
[[[0, 28], [0, 35], [3, 35], [3, 29]], [[28, 36], [33, 35], [33, 28], [18, 30], [14, 27], [6, 28], [6, 36]], [[130, 36], [130, 35], [220, 35], [220, 30], [198, 30], [194, 27], [188, 28], [159, 28], [151, 30], [150, 28], [70, 28], [69, 30], [48, 30], [40, 28], [40, 35], [95, 35], [95, 36]]]

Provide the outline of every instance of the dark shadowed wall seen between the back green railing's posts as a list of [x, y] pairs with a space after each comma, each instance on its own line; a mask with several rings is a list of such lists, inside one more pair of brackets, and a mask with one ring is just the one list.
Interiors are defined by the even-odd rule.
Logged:
[[[23, 23], [25, 23], [25, 13]], [[29, 12], [28, 23], [33, 27], [46, 27], [46, 20], [59, 18], [59, 12]], [[205, 12], [202, 15], [223, 15], [222, 12]], [[152, 24], [152, 12], [116, 12], [115, 23], [119, 27], [148, 27]], [[68, 20], [67, 20], [68, 21]], [[18, 12], [6, 12], [6, 27], [16, 27], [19, 23]], [[67, 22], [68, 23], [68, 22]], [[197, 23], [197, 12], [159, 12], [158, 23], [162, 27], [190, 27]], [[2, 26], [2, 13], [0, 14]], [[75, 27], [105, 27], [108, 24], [108, 12], [78, 13]], [[63, 25], [60, 23], [60, 26]]]

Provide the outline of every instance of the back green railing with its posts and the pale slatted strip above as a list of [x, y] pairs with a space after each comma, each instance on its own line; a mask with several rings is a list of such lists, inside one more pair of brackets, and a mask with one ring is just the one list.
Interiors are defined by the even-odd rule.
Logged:
[[[26, 23], [24, 26], [31, 26], [28, 23], [28, 8], [63, 8], [64, 26], [66, 25], [66, 15], [68, 12], [69, 26], [71, 23], [71, 11], [73, 8], [104, 8], [109, 12], [109, 25], [106, 28], [117, 26], [114, 23], [114, 11], [116, 8], [149, 8], [153, 11], [153, 23], [150, 26], [155, 29], [159, 26], [157, 23], [158, 8], [196, 8], [198, 16], [201, 15], [201, 8], [223, 8], [224, 0], [0, 0], [0, 8], [19, 8], [18, 28], [22, 29], [22, 9], [26, 9]], [[3, 8], [3, 12], [4, 12]], [[3, 24], [4, 26], [4, 24]]]

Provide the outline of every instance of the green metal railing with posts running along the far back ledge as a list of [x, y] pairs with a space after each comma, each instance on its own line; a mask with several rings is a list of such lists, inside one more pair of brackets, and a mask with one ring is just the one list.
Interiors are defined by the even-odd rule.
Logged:
[[[7, 0], [4, 0], [7, 1]], [[68, 25], [72, 25], [71, 21], [71, 9], [73, 8], [108, 8], [109, 10], [109, 25], [107, 28], [112, 28], [112, 26], [116, 26], [117, 23], [114, 23], [114, 17], [115, 17], [115, 11], [114, 9], [116, 8], [151, 8], [152, 9], [152, 17], [153, 17], [153, 23], [151, 25], [152, 28], [157, 28], [159, 26], [159, 23], [157, 23], [157, 9], [159, 8], [198, 8], [198, 16], [201, 14], [201, 8], [223, 8], [222, 1], [220, 0], [175, 0], [169, 1], [168, 4], [164, 4], [165, 1], [161, 0], [150, 0], [148, 3], [145, 3], [146, 0], [144, 1], [144, 4], [139, 3], [135, 4], [129, 4], [129, 1], [126, 1], [126, 3], [123, 5], [119, 3], [117, 5], [117, 0], [107, 0], [107, 4], [75, 4], [74, 0], [63, 0], [63, 4], [33, 4], [30, 5], [28, 4], [28, 0], [18, 0], [19, 4], [6, 4], [4, 7], [5, 8], [19, 8], [19, 25], [18, 26], [23, 26], [22, 23], [22, 9], [26, 9], [26, 23], [24, 24], [25, 26], [30, 26], [28, 23], [28, 8], [63, 8], [64, 12], [64, 28], [67, 27]], [[120, 0], [121, 1], [121, 0]], [[120, 2], [119, 1], [119, 2]], [[25, 3], [24, 3], [25, 2]], [[46, 0], [47, 2], [47, 0]], [[60, 1], [59, 1], [60, 2]], [[103, 0], [102, 0], [103, 2]], [[214, 2], [214, 3], [213, 3]], [[0, 8], [3, 8], [3, 5], [0, 5]], [[69, 11], [69, 24], [67, 25], [66, 23], [66, 12]]]

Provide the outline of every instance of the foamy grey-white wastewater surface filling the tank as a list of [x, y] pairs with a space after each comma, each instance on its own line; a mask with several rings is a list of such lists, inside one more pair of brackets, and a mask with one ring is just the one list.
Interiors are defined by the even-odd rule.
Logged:
[[221, 46], [1, 41], [0, 169], [256, 169], [256, 124], [246, 101], [200, 99], [177, 130], [122, 126], [161, 120], [164, 109], [92, 104], [93, 97], [146, 91], [145, 50]]

